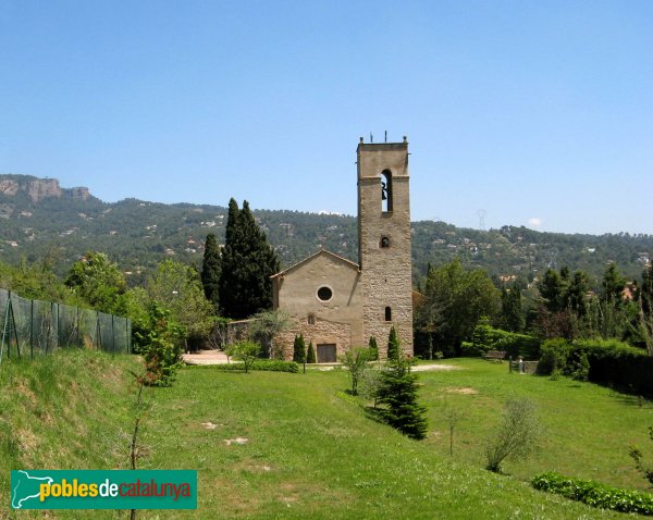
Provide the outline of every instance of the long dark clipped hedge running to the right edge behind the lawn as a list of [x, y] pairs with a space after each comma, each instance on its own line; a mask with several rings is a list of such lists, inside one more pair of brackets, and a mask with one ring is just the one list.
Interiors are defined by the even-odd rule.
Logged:
[[653, 395], [653, 358], [616, 339], [549, 339], [542, 344], [538, 371], [574, 375], [587, 359], [588, 377], [640, 395]]

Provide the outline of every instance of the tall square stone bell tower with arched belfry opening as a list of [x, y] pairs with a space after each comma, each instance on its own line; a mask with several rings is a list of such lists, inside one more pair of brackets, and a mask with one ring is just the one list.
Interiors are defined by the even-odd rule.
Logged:
[[412, 355], [412, 278], [408, 140], [366, 145], [358, 164], [358, 263], [364, 293], [362, 329], [386, 355], [394, 325]]

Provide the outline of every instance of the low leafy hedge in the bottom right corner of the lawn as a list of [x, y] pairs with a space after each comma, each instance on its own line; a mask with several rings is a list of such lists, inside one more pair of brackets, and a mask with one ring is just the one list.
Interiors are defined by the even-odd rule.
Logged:
[[589, 506], [621, 512], [653, 515], [653, 495], [640, 491], [619, 490], [593, 481], [571, 479], [559, 473], [542, 473], [531, 481], [535, 490], [556, 493]]

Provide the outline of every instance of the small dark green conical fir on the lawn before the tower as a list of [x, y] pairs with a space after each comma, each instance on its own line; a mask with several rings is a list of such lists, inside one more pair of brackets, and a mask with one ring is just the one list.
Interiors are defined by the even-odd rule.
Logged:
[[417, 374], [410, 370], [411, 361], [399, 352], [389, 358], [381, 371], [379, 403], [385, 408], [379, 409], [381, 419], [404, 435], [421, 439], [427, 436], [427, 409], [417, 401]]

